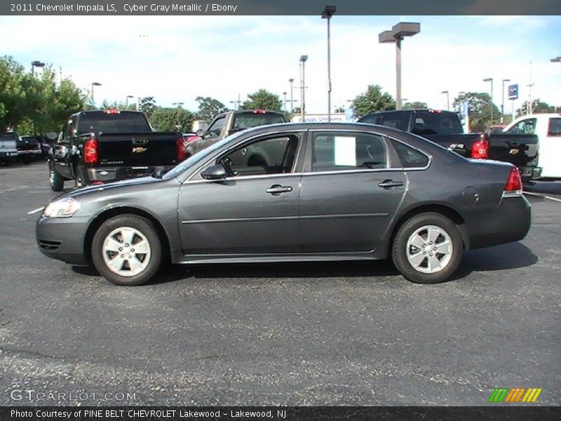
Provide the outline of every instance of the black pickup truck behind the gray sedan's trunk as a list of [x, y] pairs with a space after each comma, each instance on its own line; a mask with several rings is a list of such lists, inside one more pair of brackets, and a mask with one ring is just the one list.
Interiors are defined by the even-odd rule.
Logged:
[[414, 133], [461, 156], [473, 159], [494, 159], [513, 163], [522, 180], [541, 177], [538, 165], [538, 137], [507, 133], [466, 133], [455, 112], [434, 109], [403, 109], [374, 112], [358, 120]]

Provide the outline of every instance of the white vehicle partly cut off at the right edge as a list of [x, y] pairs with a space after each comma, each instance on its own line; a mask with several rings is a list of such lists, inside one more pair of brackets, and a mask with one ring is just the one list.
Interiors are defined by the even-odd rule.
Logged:
[[561, 114], [528, 114], [518, 117], [503, 133], [538, 136], [541, 178], [561, 179]]

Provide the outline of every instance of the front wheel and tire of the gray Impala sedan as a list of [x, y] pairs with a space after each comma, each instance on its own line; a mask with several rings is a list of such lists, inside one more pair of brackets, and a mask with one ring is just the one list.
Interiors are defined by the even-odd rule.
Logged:
[[109, 218], [93, 236], [92, 260], [97, 272], [115, 285], [147, 283], [162, 261], [161, 241], [154, 223], [137, 215]]

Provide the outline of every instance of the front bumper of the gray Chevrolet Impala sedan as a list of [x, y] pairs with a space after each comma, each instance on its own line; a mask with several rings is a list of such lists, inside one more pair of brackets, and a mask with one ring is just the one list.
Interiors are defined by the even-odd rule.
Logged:
[[84, 238], [89, 217], [44, 218], [35, 227], [39, 251], [48, 258], [62, 260], [71, 265], [87, 266]]

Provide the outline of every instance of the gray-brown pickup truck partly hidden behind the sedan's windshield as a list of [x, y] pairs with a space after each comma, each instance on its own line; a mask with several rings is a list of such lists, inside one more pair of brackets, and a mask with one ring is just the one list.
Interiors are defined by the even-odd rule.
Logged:
[[214, 145], [219, 140], [246, 128], [286, 122], [285, 116], [280, 112], [264, 109], [241, 109], [218, 114], [210, 122], [206, 131], [200, 131], [197, 133], [197, 138], [188, 140], [187, 156], [194, 155], [210, 145]]

